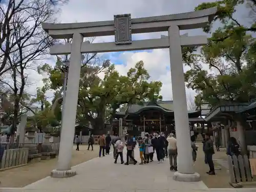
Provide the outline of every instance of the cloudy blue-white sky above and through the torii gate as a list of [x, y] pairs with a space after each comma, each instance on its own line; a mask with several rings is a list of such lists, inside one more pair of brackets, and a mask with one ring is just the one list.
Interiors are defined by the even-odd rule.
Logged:
[[[158, 16], [166, 14], [176, 14], [193, 11], [196, 6], [203, 2], [212, 2], [209, 0], [70, 0], [67, 5], [61, 7], [61, 13], [57, 15], [59, 23], [76, 23], [76, 22], [96, 22], [100, 20], [113, 20], [115, 14], [131, 13], [132, 18]], [[204, 35], [201, 29], [181, 31], [181, 34], [188, 33], [189, 36]], [[160, 38], [162, 35], [167, 35], [167, 32], [160, 33], [144, 33], [133, 34], [133, 40]], [[206, 35], [206, 34], [205, 34]], [[97, 37], [94, 42], [110, 42], [114, 41], [114, 36]], [[172, 100], [172, 82], [170, 77], [170, 62], [168, 49], [115, 52], [100, 54], [103, 59], [111, 59], [115, 63], [116, 69], [121, 75], [135, 66], [139, 60], [144, 61], [144, 66], [151, 75], [150, 80], [158, 80], [163, 83], [161, 95], [163, 100]], [[48, 60], [54, 65], [53, 60]], [[184, 71], [188, 70], [184, 66]], [[45, 76], [38, 75], [37, 72], [31, 72], [30, 81], [33, 81], [33, 86], [30, 86], [29, 93], [34, 94], [36, 87], [42, 86], [41, 79]], [[193, 97], [193, 90], [186, 90], [189, 97]], [[48, 93], [51, 97], [52, 92]]]

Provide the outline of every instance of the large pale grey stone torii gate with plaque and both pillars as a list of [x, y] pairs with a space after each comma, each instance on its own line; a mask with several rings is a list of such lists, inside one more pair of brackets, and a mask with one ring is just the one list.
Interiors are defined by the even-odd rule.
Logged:
[[[42, 28], [54, 39], [73, 38], [71, 44], [53, 45], [51, 55], [71, 54], [68, 74], [66, 102], [57, 168], [52, 177], [71, 177], [76, 172], [71, 169], [73, 137], [79, 89], [82, 53], [116, 52], [145, 49], [169, 48], [170, 72], [174, 100], [176, 137], [179, 154], [178, 172], [174, 179], [179, 181], [199, 181], [194, 172], [191, 156], [190, 133], [188, 129], [187, 100], [181, 47], [207, 44], [206, 36], [180, 36], [180, 30], [202, 28], [214, 18], [217, 8], [201, 11], [134, 18], [131, 14], [115, 15], [114, 21], [42, 24]], [[132, 40], [132, 34], [168, 31], [168, 36], [159, 39]], [[115, 35], [115, 42], [90, 44], [83, 37]]]

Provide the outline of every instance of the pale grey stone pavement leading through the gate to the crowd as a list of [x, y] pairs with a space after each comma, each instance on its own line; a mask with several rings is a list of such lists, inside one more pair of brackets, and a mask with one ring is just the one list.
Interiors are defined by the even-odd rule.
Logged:
[[[126, 150], [124, 150], [126, 151]], [[124, 157], [126, 153], [124, 152]], [[135, 157], [139, 160], [138, 149]], [[77, 175], [71, 178], [51, 178], [39, 180], [23, 188], [0, 188], [6, 192], [28, 191], [63, 191], [63, 192], [167, 192], [167, 191], [246, 191], [255, 189], [208, 189], [201, 182], [179, 182], [173, 180], [173, 172], [169, 171], [169, 162], [157, 164], [155, 161], [145, 165], [122, 165], [120, 160], [114, 164], [113, 154], [95, 158], [73, 167]]]

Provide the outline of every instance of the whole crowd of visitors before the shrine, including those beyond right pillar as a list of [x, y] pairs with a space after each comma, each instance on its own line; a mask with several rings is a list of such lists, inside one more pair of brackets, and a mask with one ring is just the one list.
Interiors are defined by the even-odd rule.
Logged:
[[[190, 137], [191, 140], [191, 148], [192, 148], [192, 159], [195, 163], [197, 159], [197, 151], [198, 146], [196, 145], [196, 136], [193, 135]], [[219, 142], [218, 138], [215, 138], [216, 150], [219, 151]], [[79, 138], [76, 138], [77, 149], [79, 151]], [[94, 145], [94, 137], [93, 134], [90, 135], [88, 142], [88, 150], [93, 151]], [[113, 154], [114, 154], [114, 163], [117, 163], [118, 158], [120, 157], [121, 164], [129, 165], [132, 162], [134, 165], [138, 163], [138, 161], [134, 157], [134, 149], [135, 147], [139, 148], [140, 155], [140, 165], [148, 164], [153, 162], [153, 157], [156, 154], [158, 163], [162, 163], [164, 158], [169, 158], [170, 170], [177, 171], [177, 140], [175, 138], [175, 134], [170, 133], [168, 137], [165, 137], [164, 133], [154, 132], [152, 134], [146, 133], [144, 137], [139, 136], [131, 136], [127, 134], [124, 138], [124, 142], [117, 135], [111, 137], [108, 135], [101, 135], [98, 138], [99, 144], [99, 157], [109, 155], [111, 145], [113, 146]], [[123, 158], [123, 150], [126, 147], [126, 162], [124, 162]], [[214, 150], [214, 142], [210, 138], [210, 134], [203, 134], [203, 152], [205, 155], [205, 163], [209, 166], [209, 171], [207, 174], [215, 175], [215, 167], [214, 162], [212, 160], [212, 156], [215, 154]], [[237, 140], [233, 137], [230, 138], [228, 147], [227, 147], [227, 155], [240, 155], [240, 146]], [[130, 159], [132, 161], [130, 161]]]

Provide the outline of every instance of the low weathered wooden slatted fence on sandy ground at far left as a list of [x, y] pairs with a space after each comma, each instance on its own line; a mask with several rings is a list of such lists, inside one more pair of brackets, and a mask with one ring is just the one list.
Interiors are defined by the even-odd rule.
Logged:
[[5, 150], [0, 164], [0, 170], [28, 164], [29, 148]]

